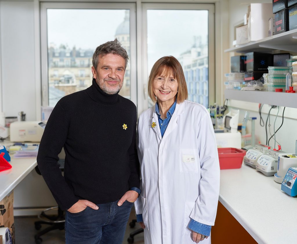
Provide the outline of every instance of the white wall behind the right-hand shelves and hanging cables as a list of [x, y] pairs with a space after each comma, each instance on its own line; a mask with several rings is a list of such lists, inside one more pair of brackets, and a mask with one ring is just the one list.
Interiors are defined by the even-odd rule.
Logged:
[[[239, 23], [243, 22], [243, 16], [247, 12], [247, 6], [249, 3], [271, 3], [271, 0], [229, 0], [229, 47], [232, 47], [232, 41], [234, 39], [234, 26], [237, 26]], [[229, 53], [230, 56], [233, 55], [239, 55], [238, 53]], [[229, 56], [229, 58], [230, 58]], [[229, 72], [230, 72], [230, 59], [229, 59]], [[260, 94], [259, 94], [260, 95]], [[276, 101], [277, 103], [277, 101]], [[260, 116], [258, 111], [258, 104], [257, 103], [249, 103], [249, 102], [240, 102], [240, 101], [229, 101], [229, 104], [233, 106], [233, 108], [239, 108], [240, 109], [240, 116], [239, 120], [242, 121], [244, 117], [245, 111], [250, 112], [250, 117], [257, 117], [257, 120], [255, 121], [255, 132], [256, 135], [259, 137], [261, 143], [266, 143], [266, 132], [265, 127], [260, 126]], [[269, 111], [269, 106], [265, 105], [263, 107], [262, 113], [263, 113], [263, 119], [264, 122], [266, 122], [267, 113]], [[278, 115], [278, 119], [276, 122], [276, 127], [278, 128], [282, 122], [282, 109], [280, 110], [280, 113]], [[274, 118], [277, 113], [277, 109], [271, 110], [271, 113], [274, 114], [271, 116], [271, 123], [273, 126]], [[295, 151], [295, 141], [297, 140], [297, 130], [296, 123], [297, 123], [297, 109], [293, 108], [286, 108], [285, 110], [285, 119], [284, 123], [282, 125], [282, 128], [279, 129], [277, 132], [277, 141], [282, 145], [282, 149], [287, 152], [294, 152]], [[267, 126], [268, 128], [268, 126]], [[247, 125], [247, 131], [251, 131], [250, 123]], [[273, 131], [273, 127], [271, 127], [271, 131]], [[273, 134], [273, 132], [272, 132]], [[269, 132], [268, 132], [269, 135]], [[270, 136], [268, 137], [268, 139]], [[274, 145], [274, 141], [270, 140], [270, 145]]]

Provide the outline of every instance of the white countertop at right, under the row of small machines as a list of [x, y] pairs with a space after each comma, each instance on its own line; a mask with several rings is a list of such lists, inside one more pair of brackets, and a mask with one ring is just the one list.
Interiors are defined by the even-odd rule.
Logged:
[[222, 169], [219, 201], [258, 243], [296, 239], [297, 198], [283, 192], [274, 176], [245, 164], [240, 169]]

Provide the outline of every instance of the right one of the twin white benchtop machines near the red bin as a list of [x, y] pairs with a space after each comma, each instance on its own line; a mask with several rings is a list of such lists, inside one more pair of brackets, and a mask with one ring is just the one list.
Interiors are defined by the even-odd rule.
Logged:
[[277, 172], [278, 156], [284, 151], [275, 151], [270, 149], [268, 153], [264, 153], [260, 156], [256, 163], [256, 170], [263, 173], [266, 176], [272, 176]]

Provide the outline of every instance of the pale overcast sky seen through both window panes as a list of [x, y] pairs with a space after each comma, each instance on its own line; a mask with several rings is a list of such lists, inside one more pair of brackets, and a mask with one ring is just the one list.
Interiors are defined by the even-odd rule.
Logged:
[[[48, 9], [48, 44], [95, 49], [113, 40], [123, 22], [124, 9]], [[148, 66], [162, 56], [178, 56], [189, 50], [194, 36], [206, 40], [207, 10], [155, 10], [147, 12]]]

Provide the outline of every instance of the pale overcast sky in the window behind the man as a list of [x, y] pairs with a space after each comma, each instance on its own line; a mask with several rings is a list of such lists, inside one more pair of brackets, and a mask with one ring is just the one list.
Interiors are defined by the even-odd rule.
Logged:
[[48, 9], [48, 44], [94, 49], [114, 39], [123, 9]]

